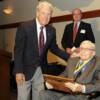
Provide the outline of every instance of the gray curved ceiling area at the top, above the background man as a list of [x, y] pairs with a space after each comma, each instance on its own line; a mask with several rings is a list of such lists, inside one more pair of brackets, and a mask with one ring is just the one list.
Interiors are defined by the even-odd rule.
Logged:
[[94, 0], [47, 0], [47, 1], [51, 2], [53, 6], [62, 11], [66, 10], [72, 11], [75, 8], [88, 7]]

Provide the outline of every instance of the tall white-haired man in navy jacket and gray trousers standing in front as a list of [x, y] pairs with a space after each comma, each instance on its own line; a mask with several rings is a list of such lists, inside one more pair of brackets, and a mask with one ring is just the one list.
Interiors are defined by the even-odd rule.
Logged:
[[47, 65], [47, 52], [67, 60], [69, 55], [60, 50], [56, 44], [56, 31], [48, 25], [53, 6], [39, 2], [36, 19], [22, 23], [16, 33], [14, 74], [18, 88], [18, 100], [40, 100], [39, 92], [44, 89], [41, 66]]

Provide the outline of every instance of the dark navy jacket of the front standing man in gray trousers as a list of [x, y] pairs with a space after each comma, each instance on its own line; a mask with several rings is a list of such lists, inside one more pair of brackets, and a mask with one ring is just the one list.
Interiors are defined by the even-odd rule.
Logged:
[[38, 66], [47, 65], [47, 52], [67, 60], [68, 55], [62, 52], [56, 44], [56, 31], [46, 26], [47, 40], [41, 56], [39, 56], [36, 20], [22, 23], [16, 33], [14, 74], [24, 73], [26, 80], [32, 78]]

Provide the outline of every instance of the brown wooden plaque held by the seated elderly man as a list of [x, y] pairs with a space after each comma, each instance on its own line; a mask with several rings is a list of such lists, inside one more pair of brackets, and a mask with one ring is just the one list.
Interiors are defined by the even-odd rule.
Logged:
[[74, 79], [44, 74], [44, 80], [50, 83], [54, 90], [72, 93], [69, 88], [65, 87], [65, 82], [74, 82]]

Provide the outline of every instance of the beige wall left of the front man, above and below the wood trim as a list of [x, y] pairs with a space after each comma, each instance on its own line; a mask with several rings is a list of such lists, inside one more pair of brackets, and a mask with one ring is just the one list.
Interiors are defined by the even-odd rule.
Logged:
[[[6, 1], [6, 0], [5, 0]], [[11, 15], [2, 13], [2, 9], [7, 6], [5, 2], [0, 2], [0, 25], [22, 22], [35, 17], [37, 0], [11, 0], [10, 6], [14, 12]], [[9, 4], [8, 4], [9, 6]], [[0, 48], [13, 52], [15, 43], [16, 28], [0, 30]]]

